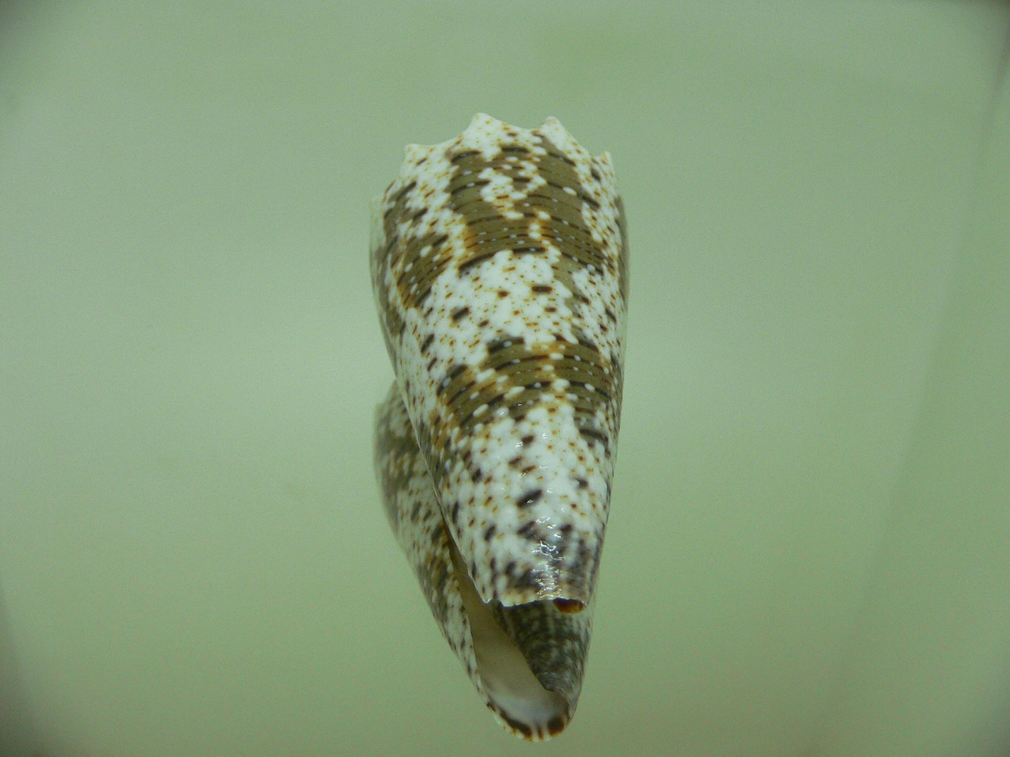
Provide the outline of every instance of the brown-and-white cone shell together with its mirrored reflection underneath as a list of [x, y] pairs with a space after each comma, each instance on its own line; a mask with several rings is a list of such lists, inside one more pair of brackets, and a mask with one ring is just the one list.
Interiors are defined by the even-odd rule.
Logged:
[[396, 382], [376, 469], [449, 646], [506, 729], [582, 689], [620, 424], [628, 245], [610, 155], [554, 118], [410, 144], [373, 208]]

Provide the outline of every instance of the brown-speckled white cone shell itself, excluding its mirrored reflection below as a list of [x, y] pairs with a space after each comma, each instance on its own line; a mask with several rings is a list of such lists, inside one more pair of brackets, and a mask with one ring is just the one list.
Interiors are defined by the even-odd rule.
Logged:
[[409, 145], [373, 227], [397, 382], [481, 598], [588, 604], [620, 418], [627, 244], [607, 153], [485, 115]]

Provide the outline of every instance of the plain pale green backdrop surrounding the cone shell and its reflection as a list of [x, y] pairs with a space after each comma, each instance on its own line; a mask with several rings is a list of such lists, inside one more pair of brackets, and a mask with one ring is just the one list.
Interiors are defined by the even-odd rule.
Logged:
[[[1010, 743], [1005, 6], [0, 23], [0, 754]], [[368, 203], [479, 110], [610, 150], [630, 226], [595, 636], [545, 746], [472, 690], [371, 464]]]

